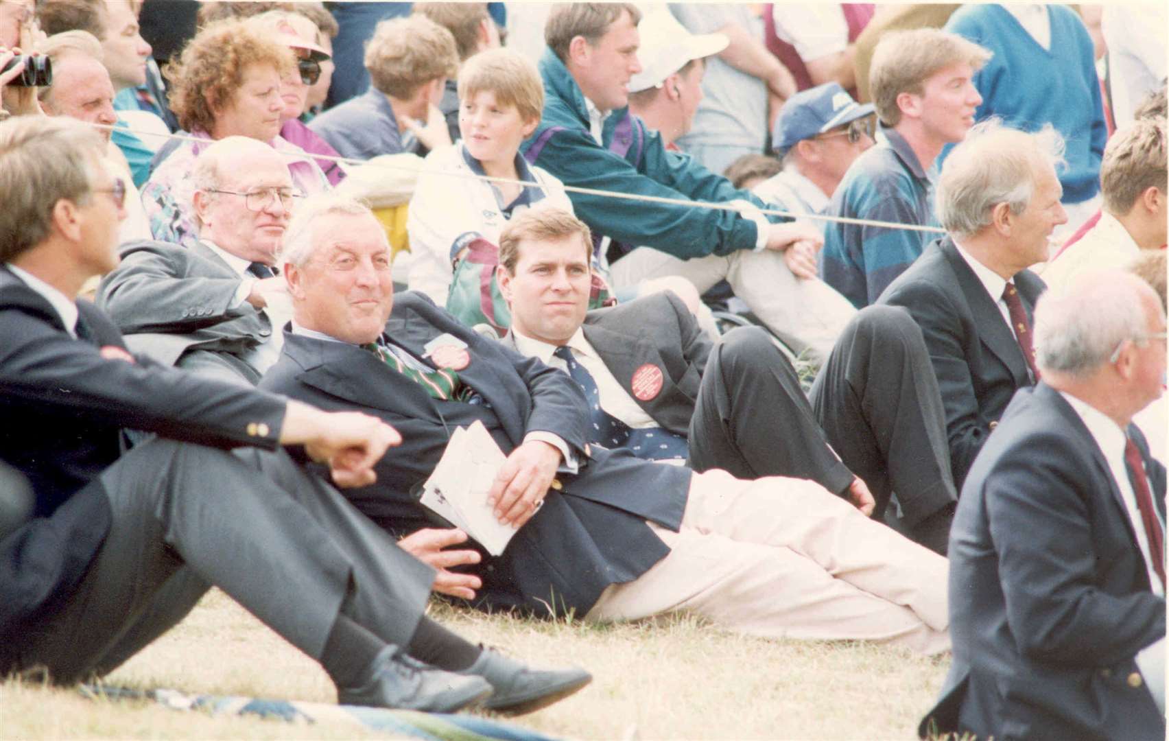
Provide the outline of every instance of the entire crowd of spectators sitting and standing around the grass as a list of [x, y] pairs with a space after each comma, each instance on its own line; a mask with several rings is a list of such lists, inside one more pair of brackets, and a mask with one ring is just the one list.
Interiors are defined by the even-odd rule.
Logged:
[[[924, 734], [1163, 735], [1163, 8], [174, 2], [192, 26], [155, 37], [161, 5], [0, 0], [0, 334], [55, 335], [0, 348], [0, 409], [90, 404], [115, 441], [61, 476], [0, 434], [0, 671], [110, 671], [215, 583], [343, 701], [527, 712], [588, 681], [420, 618], [429, 584], [953, 646]], [[411, 498], [471, 423], [507, 458], [503, 554], [449, 549]], [[240, 443], [292, 456], [182, 453]], [[171, 466], [181, 559], [115, 577], [162, 538], [122, 532], [130, 457]], [[270, 514], [258, 563], [303, 549], [281, 527], [327, 543], [286, 565], [323, 611], [284, 621], [299, 597], [213, 556], [237, 533], [182, 525], [196, 466], [327, 503], [216, 520]], [[22, 644], [131, 582], [77, 656]], [[371, 626], [390, 603], [413, 638]]]

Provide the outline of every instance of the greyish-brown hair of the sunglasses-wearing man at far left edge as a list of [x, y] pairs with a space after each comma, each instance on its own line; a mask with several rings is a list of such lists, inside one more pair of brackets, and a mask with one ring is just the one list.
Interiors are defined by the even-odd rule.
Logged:
[[0, 263], [50, 234], [57, 201], [92, 198], [105, 140], [67, 116], [18, 116], [0, 124]]

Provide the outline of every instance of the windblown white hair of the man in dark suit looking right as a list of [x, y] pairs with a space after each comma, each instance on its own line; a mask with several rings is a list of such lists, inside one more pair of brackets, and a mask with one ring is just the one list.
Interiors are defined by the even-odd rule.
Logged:
[[1021, 214], [1035, 195], [1036, 173], [1063, 162], [1064, 138], [1050, 124], [1029, 133], [997, 118], [981, 122], [942, 165], [934, 196], [938, 221], [968, 237], [990, 223], [998, 203]]

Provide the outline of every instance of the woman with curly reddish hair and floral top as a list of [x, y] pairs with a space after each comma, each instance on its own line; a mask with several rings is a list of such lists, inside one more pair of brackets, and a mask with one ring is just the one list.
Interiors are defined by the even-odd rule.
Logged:
[[288, 46], [240, 20], [208, 25], [167, 67], [171, 110], [189, 137], [206, 141], [172, 140], [155, 157], [155, 169], [143, 187], [143, 206], [155, 240], [187, 247], [198, 241], [191, 172], [207, 144], [224, 137], [260, 139], [285, 153], [302, 193], [328, 189], [320, 167], [279, 136], [281, 77], [297, 74], [296, 69]]

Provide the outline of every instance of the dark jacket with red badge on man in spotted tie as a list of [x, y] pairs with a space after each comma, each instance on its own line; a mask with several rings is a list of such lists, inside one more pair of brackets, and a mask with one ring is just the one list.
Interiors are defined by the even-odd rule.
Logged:
[[[651, 293], [584, 316], [584, 339], [601, 355], [613, 378], [664, 429], [685, 437], [703, 372], [714, 344], [694, 314], [670, 291]], [[504, 344], [516, 348], [509, 332]], [[649, 401], [634, 395], [634, 373], [650, 363], [662, 369], [662, 390]]]

